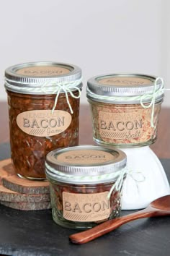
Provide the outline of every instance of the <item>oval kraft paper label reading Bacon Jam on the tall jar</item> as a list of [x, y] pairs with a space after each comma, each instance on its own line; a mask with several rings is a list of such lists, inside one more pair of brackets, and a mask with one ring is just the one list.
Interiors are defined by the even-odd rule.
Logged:
[[17, 116], [17, 125], [28, 135], [47, 137], [58, 135], [71, 124], [71, 114], [61, 110], [32, 110]]

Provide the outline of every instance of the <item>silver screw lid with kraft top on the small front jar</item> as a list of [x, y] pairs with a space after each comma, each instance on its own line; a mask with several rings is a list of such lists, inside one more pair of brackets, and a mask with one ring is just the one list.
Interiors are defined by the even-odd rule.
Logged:
[[[79, 145], [53, 150], [46, 156], [46, 176], [72, 184], [94, 184], [116, 180], [126, 166], [121, 150], [94, 145]], [[114, 179], [113, 179], [114, 176]]]

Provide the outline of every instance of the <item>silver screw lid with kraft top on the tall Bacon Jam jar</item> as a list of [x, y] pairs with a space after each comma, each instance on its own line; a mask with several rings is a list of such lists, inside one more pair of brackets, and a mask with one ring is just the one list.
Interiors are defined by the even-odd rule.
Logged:
[[[5, 70], [5, 88], [22, 94], [53, 94], [56, 85], [73, 84], [70, 90], [82, 88], [81, 69], [72, 64], [57, 62], [30, 62], [17, 64]], [[61, 90], [61, 93], [64, 93]]]

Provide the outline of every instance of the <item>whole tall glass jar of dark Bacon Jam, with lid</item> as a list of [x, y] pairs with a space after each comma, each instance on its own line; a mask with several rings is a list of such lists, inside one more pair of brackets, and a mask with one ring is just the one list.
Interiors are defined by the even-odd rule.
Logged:
[[11, 155], [21, 177], [45, 179], [45, 155], [79, 144], [81, 69], [34, 62], [5, 72]]

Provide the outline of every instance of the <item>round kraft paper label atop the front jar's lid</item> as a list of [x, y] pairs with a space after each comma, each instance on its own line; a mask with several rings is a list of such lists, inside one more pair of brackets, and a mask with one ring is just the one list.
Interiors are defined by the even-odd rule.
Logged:
[[116, 157], [116, 152], [110, 154], [102, 150], [71, 150], [55, 156], [55, 158], [62, 163], [81, 165], [113, 161]]

